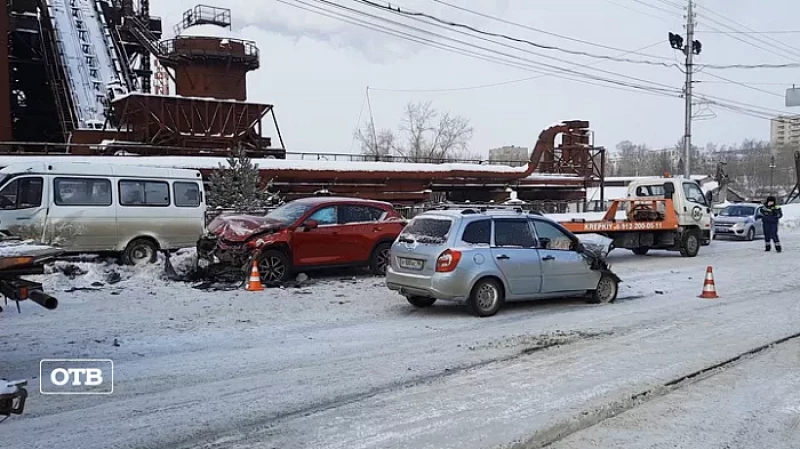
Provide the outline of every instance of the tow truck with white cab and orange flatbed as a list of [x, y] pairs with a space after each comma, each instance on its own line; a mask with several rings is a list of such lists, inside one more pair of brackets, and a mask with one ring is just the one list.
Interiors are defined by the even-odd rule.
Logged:
[[642, 256], [660, 249], [695, 257], [711, 243], [711, 205], [697, 181], [641, 179], [628, 185], [627, 194], [613, 200], [600, 220], [573, 218], [561, 224], [574, 234], [603, 235], [614, 241], [612, 248]]

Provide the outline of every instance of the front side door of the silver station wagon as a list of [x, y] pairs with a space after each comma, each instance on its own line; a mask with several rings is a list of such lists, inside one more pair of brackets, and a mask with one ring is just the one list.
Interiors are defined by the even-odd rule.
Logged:
[[578, 292], [597, 287], [599, 276], [576, 251], [572, 237], [554, 223], [531, 221], [542, 263], [542, 293]]

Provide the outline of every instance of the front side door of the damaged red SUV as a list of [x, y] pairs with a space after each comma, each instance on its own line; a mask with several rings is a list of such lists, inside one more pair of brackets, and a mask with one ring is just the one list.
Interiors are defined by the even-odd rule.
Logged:
[[335, 205], [321, 206], [304, 220], [317, 222], [313, 229], [299, 226], [292, 233], [295, 266], [339, 265], [344, 260], [339, 242], [339, 213]]

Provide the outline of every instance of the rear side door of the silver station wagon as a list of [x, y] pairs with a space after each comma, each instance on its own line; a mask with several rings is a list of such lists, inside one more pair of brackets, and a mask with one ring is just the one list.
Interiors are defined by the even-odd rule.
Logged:
[[491, 252], [510, 296], [529, 297], [539, 293], [541, 263], [528, 220], [496, 218]]

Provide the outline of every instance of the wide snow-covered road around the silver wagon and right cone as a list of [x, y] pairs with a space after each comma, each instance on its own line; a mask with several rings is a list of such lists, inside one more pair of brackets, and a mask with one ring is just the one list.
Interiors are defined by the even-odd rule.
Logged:
[[[488, 319], [416, 310], [371, 277], [249, 293], [141, 273], [62, 292], [54, 312], [0, 314], [0, 373], [36, 390], [42, 358], [111, 358], [114, 394], [34, 391], [0, 425], [0, 447], [567, 444], [632, 395], [800, 332], [800, 235], [783, 239], [783, 254], [760, 242], [715, 242], [694, 259], [615, 252], [618, 303], [509, 304]], [[697, 298], [707, 265], [718, 300]]]

